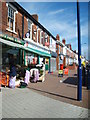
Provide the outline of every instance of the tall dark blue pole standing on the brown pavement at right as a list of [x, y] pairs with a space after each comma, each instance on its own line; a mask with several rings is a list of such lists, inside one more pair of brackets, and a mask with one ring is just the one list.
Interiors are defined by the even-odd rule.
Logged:
[[80, 14], [79, 2], [77, 0], [77, 32], [78, 32], [78, 86], [77, 86], [77, 100], [82, 100], [82, 68], [81, 68], [81, 39], [80, 39]]

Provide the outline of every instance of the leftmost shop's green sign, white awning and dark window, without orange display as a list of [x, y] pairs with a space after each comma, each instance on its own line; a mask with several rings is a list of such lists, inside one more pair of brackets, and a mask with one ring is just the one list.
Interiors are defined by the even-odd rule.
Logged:
[[9, 66], [10, 59], [14, 55], [16, 64], [23, 64], [23, 45], [24, 42], [20, 39], [10, 37], [5, 34], [0, 34], [0, 44], [2, 46], [2, 65]]

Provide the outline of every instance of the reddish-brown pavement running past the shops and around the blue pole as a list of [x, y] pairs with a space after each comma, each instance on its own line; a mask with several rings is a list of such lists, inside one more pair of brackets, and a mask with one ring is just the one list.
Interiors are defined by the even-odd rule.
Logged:
[[29, 83], [28, 88], [49, 98], [90, 109], [90, 90], [82, 87], [82, 101], [77, 101], [77, 71], [58, 77], [58, 72], [46, 74], [44, 82]]

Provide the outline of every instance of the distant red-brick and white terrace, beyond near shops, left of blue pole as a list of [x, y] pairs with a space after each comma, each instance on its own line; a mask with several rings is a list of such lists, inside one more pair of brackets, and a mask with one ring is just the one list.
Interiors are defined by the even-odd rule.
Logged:
[[78, 54], [72, 50], [71, 44], [66, 44], [66, 40], [63, 39], [62, 42], [59, 38], [59, 35], [56, 36], [56, 49], [57, 49], [57, 70], [60, 69], [60, 64], [63, 64], [64, 67], [68, 67], [70, 69], [75, 67], [74, 64], [78, 64]]

